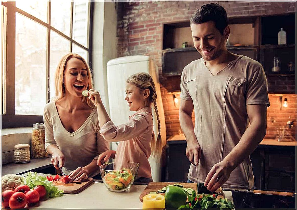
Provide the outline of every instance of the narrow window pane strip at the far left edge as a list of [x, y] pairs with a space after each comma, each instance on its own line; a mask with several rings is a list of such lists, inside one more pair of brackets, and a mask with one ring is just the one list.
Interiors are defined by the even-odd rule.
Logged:
[[6, 7], [1, 5], [1, 114], [5, 114]]

